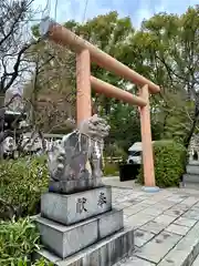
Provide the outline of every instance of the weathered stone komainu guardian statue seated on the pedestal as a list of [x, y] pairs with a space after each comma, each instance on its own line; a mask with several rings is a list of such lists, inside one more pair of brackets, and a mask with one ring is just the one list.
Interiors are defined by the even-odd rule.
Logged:
[[104, 137], [109, 125], [96, 114], [49, 152], [50, 191], [73, 193], [102, 186]]

